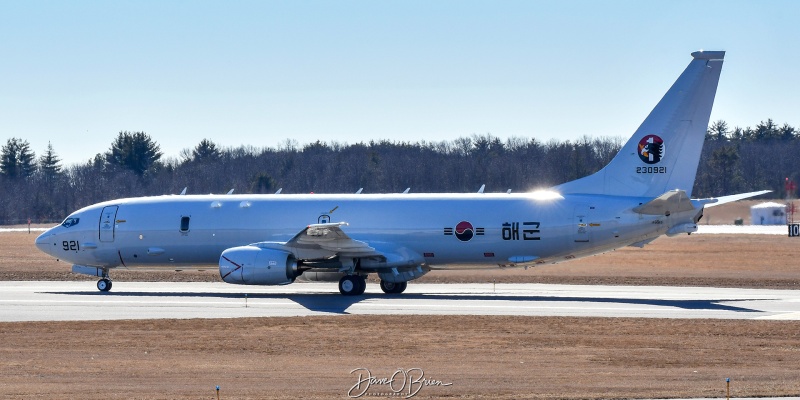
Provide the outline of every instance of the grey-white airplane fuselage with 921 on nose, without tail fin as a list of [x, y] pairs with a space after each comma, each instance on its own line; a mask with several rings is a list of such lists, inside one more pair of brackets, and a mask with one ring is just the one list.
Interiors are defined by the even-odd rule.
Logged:
[[77, 224], [57, 226], [36, 243], [87, 266], [216, 268], [225, 249], [286, 242], [307, 225], [342, 221], [352, 239], [433, 268], [496, 268], [602, 253], [697, 214], [631, 211], [647, 200], [553, 192], [156, 196], [86, 207], [70, 216]]

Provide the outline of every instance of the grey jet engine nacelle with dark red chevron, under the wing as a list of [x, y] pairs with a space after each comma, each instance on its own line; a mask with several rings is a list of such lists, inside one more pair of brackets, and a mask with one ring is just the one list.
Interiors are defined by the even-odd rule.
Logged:
[[219, 275], [223, 281], [239, 285], [286, 285], [300, 272], [297, 259], [288, 251], [240, 246], [222, 252]]

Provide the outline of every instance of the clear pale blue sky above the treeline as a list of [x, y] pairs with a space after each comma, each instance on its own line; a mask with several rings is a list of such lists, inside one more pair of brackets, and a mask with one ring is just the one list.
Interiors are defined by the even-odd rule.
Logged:
[[0, 1], [0, 142], [628, 137], [698, 49], [712, 120], [800, 126], [797, 1]]

